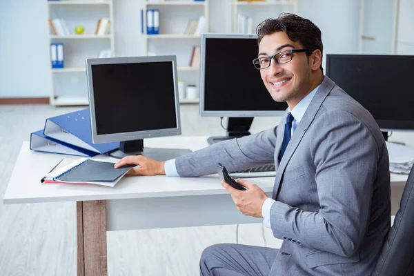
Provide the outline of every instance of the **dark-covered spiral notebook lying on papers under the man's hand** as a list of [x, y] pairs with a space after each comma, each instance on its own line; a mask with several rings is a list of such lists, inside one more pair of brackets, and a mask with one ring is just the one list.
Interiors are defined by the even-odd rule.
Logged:
[[135, 165], [114, 168], [114, 163], [89, 158], [77, 159], [68, 166], [45, 175], [44, 183], [97, 184], [113, 187]]

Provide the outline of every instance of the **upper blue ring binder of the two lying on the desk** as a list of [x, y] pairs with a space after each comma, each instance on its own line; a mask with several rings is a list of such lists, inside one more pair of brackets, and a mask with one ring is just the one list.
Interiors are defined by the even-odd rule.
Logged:
[[119, 142], [92, 143], [89, 108], [46, 119], [43, 135], [101, 154], [119, 148]]

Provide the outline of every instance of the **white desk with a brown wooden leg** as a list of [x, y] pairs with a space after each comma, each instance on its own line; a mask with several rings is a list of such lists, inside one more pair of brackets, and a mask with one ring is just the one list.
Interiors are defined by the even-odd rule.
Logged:
[[[190, 148], [208, 146], [207, 137], [164, 137], [146, 146]], [[33, 152], [24, 142], [3, 198], [4, 204], [77, 201], [77, 274], [107, 275], [106, 231], [221, 224], [258, 223], [237, 211], [217, 175], [194, 178], [124, 177], [114, 187], [41, 184], [40, 179], [68, 155]], [[101, 157], [108, 158], [108, 157]], [[391, 175], [404, 186], [405, 175]], [[269, 196], [273, 177], [255, 178]]]

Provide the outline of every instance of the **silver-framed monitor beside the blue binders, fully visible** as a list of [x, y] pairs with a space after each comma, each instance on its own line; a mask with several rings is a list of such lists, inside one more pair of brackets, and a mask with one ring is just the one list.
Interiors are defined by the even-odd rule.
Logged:
[[121, 141], [118, 158], [190, 151], [144, 148], [143, 139], [181, 134], [175, 56], [87, 59], [86, 73], [93, 143]]

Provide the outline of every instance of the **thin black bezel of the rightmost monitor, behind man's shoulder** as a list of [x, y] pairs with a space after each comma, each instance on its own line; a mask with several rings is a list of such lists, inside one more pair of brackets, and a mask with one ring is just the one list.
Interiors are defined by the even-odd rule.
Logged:
[[[325, 75], [329, 77], [329, 72], [331, 70], [331, 61], [332, 59], [366, 59], [366, 58], [377, 58], [377, 59], [414, 59], [414, 56], [410, 55], [339, 55], [339, 54], [328, 54], [326, 55], [326, 72]], [[345, 92], [347, 92], [345, 90]], [[351, 95], [350, 95], [351, 96]], [[352, 97], [352, 96], [351, 96]], [[374, 118], [375, 119], [375, 118]], [[375, 119], [378, 126], [380, 126], [382, 131], [411, 131], [414, 130], [414, 120], [385, 120], [385, 119]]]

